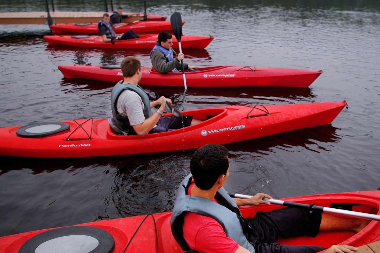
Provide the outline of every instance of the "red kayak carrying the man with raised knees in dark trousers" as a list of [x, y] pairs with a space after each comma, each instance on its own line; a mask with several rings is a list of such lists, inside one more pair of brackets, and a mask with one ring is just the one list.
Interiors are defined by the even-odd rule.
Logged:
[[[203, 49], [214, 39], [213, 36], [182, 36], [182, 48]], [[137, 39], [123, 39], [111, 42], [104, 42], [103, 38], [98, 35], [45, 35], [44, 40], [49, 45], [65, 45], [72, 47], [93, 47], [108, 49], [152, 49], [157, 41], [157, 34], [140, 35]], [[178, 47], [178, 41], [173, 37], [173, 48]]]

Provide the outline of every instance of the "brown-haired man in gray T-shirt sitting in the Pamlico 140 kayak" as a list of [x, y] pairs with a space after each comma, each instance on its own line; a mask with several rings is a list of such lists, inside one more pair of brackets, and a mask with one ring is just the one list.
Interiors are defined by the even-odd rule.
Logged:
[[[163, 116], [166, 102], [171, 100], [161, 96], [150, 102], [149, 96], [138, 85], [141, 80], [140, 60], [133, 56], [125, 57], [120, 64], [124, 80], [117, 83], [111, 93], [112, 118], [116, 126], [127, 135], [167, 132], [200, 123], [192, 116]], [[159, 106], [152, 113], [151, 108]]]

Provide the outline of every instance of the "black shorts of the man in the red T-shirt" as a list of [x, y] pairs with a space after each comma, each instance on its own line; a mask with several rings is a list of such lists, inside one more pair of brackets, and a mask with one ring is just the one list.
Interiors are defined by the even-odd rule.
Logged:
[[256, 253], [314, 253], [325, 250], [324, 247], [308, 245], [281, 245], [276, 243], [279, 237], [316, 236], [321, 224], [321, 213], [288, 207], [272, 212], [258, 212], [248, 218], [255, 230], [247, 239], [252, 242]]

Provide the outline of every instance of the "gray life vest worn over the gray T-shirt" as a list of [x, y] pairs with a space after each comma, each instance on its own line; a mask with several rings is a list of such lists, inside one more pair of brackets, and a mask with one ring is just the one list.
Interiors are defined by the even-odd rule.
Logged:
[[142, 103], [144, 104], [144, 109], [142, 110], [144, 113], [145, 119], [152, 116], [152, 111], [150, 110], [150, 100], [149, 96], [145, 93], [142, 88], [137, 85], [133, 85], [131, 83], [122, 84], [123, 80], [116, 83], [114, 88], [112, 89], [111, 93], [111, 107], [112, 107], [112, 117], [114, 118], [115, 124], [117, 127], [119, 127], [121, 130], [128, 133], [128, 135], [136, 134], [135, 130], [133, 130], [133, 127], [130, 125], [128, 117], [120, 115], [119, 112], [117, 112], [117, 99], [119, 98], [120, 94], [124, 90], [131, 90], [136, 92], [142, 100]]

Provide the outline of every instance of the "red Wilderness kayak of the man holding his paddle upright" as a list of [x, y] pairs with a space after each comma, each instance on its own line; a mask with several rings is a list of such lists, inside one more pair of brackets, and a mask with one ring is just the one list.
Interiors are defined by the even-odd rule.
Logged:
[[[119, 82], [120, 66], [59, 65], [64, 77]], [[139, 85], [184, 86], [182, 72], [160, 74], [141, 67]], [[255, 66], [210, 66], [186, 72], [188, 87], [307, 87], [322, 71]]]

